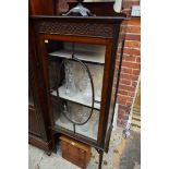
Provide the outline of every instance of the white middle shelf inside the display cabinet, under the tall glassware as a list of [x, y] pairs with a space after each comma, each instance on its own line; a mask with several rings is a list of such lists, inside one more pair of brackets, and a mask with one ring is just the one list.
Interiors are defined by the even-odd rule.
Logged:
[[[59, 98], [63, 98], [65, 100], [73, 101], [75, 104], [80, 104], [80, 105], [83, 105], [83, 106], [86, 106], [86, 107], [89, 107], [89, 108], [92, 107], [92, 104], [90, 102], [87, 102], [83, 98], [83, 96], [82, 96], [81, 93], [76, 93], [76, 95], [74, 95], [73, 97], [70, 97], [70, 96], [68, 96], [65, 94], [65, 87], [64, 86], [59, 87], [58, 92], [59, 92]], [[51, 95], [58, 97], [57, 90], [52, 90], [51, 92]], [[96, 100], [97, 100], [97, 102], [94, 102], [94, 108], [97, 109], [97, 110], [99, 110], [100, 109], [100, 102], [99, 102], [100, 99], [99, 98], [96, 98]]]

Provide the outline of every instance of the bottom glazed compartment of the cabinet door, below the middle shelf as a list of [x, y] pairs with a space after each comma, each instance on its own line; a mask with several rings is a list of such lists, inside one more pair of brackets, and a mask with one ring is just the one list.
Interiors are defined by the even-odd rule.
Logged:
[[[68, 130], [73, 131], [73, 122], [82, 123], [85, 122], [89, 114], [90, 108], [73, 104], [71, 101], [55, 102], [52, 105], [55, 124]], [[65, 118], [64, 113], [69, 119]], [[87, 137], [97, 140], [98, 133], [98, 121], [99, 121], [99, 111], [94, 110], [89, 120], [83, 125], [75, 125], [75, 132]]]

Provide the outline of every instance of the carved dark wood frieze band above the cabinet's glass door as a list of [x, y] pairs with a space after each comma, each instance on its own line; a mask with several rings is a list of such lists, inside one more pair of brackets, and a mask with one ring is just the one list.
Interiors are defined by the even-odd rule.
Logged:
[[105, 38], [112, 38], [117, 33], [117, 25], [109, 23], [36, 21], [35, 27], [38, 33]]

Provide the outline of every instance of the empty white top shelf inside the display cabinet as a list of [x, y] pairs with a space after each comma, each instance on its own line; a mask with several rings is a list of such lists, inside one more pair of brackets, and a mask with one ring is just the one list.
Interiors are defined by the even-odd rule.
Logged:
[[[69, 49], [60, 49], [60, 50], [48, 53], [48, 56], [71, 59], [72, 51]], [[105, 64], [105, 56], [97, 51], [77, 50], [74, 53], [74, 58], [80, 59], [85, 62], [89, 62], [89, 63]]]

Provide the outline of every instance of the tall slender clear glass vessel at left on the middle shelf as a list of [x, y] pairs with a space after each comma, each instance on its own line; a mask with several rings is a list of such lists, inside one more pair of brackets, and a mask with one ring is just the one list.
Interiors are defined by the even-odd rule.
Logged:
[[73, 70], [71, 69], [70, 61], [64, 62], [65, 67], [65, 94], [70, 97], [76, 94], [75, 83], [74, 83], [74, 75]]

